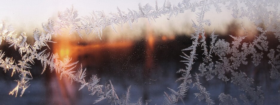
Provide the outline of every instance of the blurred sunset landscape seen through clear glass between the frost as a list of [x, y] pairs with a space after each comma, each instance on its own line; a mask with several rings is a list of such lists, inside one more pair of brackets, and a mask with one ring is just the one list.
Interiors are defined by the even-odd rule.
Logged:
[[[138, 3], [149, 3], [154, 7], [154, 1], [2, 1], [0, 4], [1, 19], [6, 20], [7, 24], [13, 24], [16, 32], [28, 33], [28, 43], [33, 44], [34, 39], [31, 36], [35, 28], [42, 30], [41, 23], [46, 23], [49, 17], [57, 19], [57, 11], [64, 11], [67, 7], [74, 4], [74, 8], [79, 10], [79, 16], [89, 15], [92, 10], [104, 10], [105, 13], [117, 12], [118, 6], [122, 11], [127, 8], [138, 10]], [[158, 1], [159, 6], [164, 1]], [[178, 0], [171, 1], [171, 4], [177, 4]], [[7, 5], [9, 4], [9, 5]], [[3, 11], [2, 11], [3, 10]], [[225, 39], [227, 42], [233, 41], [228, 35], [244, 36], [242, 26], [249, 33], [245, 42], [252, 42], [255, 35], [258, 34], [256, 26], [246, 19], [233, 19], [230, 11], [217, 14], [217, 12], [207, 12], [206, 19], [211, 20], [211, 26], [205, 27], [207, 41], [208, 37], [215, 29], [215, 34], [220, 35], [218, 38]], [[212, 15], [215, 14], [215, 15]], [[62, 35], [53, 37], [54, 42], [49, 43], [50, 49], [45, 47], [47, 52], [58, 53], [61, 58], [69, 56], [74, 61], [79, 61], [83, 69], [87, 69], [87, 77], [97, 74], [101, 81], [99, 84], [105, 85], [108, 80], [112, 81], [117, 95], [121, 97], [131, 86], [131, 102], [137, 102], [140, 97], [142, 100], [151, 99], [150, 104], [162, 104], [164, 92], [169, 93], [168, 88], [176, 90], [181, 82], [175, 82], [181, 74], [176, 71], [184, 69], [184, 60], [180, 55], [182, 49], [192, 44], [190, 34], [194, 33], [191, 26], [191, 20], [195, 20], [195, 12], [186, 11], [178, 16], [167, 20], [167, 16], [160, 17], [150, 23], [147, 19], [141, 18], [138, 23], [133, 23], [131, 29], [126, 23], [121, 28], [117, 26], [117, 33], [110, 27], [103, 31], [102, 40], [97, 39], [95, 34], [84, 35], [83, 39], [77, 34], [69, 35], [69, 30], [64, 29]], [[229, 16], [229, 17], [226, 17]], [[276, 48], [279, 42], [274, 36], [268, 37], [269, 46]], [[209, 43], [208, 43], [209, 44]], [[0, 45], [7, 57], [13, 57], [15, 61], [21, 59], [17, 50], [9, 47], [9, 44], [2, 42]], [[199, 47], [200, 48], [200, 47]], [[202, 50], [197, 50], [202, 54]], [[271, 66], [267, 63], [267, 54], [264, 54], [263, 61], [258, 66], [251, 62], [246, 66], [241, 66], [241, 70], [252, 77], [255, 82], [252, 87], [262, 86], [264, 91], [265, 104], [279, 104], [280, 88], [279, 79], [270, 79], [269, 70]], [[198, 59], [193, 69], [197, 70], [202, 62]], [[40, 61], [36, 61], [31, 66], [30, 72], [34, 79], [30, 81], [22, 97], [8, 95], [15, 86], [13, 80], [18, 77], [11, 77], [11, 72], [0, 71], [0, 104], [92, 104], [98, 98], [89, 95], [87, 88], [78, 91], [80, 84], [63, 78], [60, 80], [59, 75], [47, 70], [41, 75], [42, 67]], [[77, 69], [76, 69], [77, 70]], [[191, 71], [192, 74], [195, 71]], [[230, 74], [227, 74], [230, 78]], [[220, 93], [230, 94], [238, 98], [243, 91], [228, 82], [225, 83], [220, 79], [214, 78], [211, 81], [201, 80], [204, 87], [211, 94], [211, 99], [219, 103], [218, 96]], [[199, 92], [195, 87], [190, 88], [184, 99], [185, 104], [206, 104], [205, 101], [195, 99], [194, 93]], [[274, 101], [273, 101], [274, 100]], [[243, 103], [242, 100], [238, 100]], [[107, 104], [107, 101], [101, 101], [97, 104]], [[178, 104], [183, 104], [179, 102]]]

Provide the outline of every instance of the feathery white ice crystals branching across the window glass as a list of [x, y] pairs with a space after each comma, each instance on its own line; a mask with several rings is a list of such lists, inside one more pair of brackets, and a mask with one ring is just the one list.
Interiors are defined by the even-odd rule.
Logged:
[[[80, 37], [83, 36], [81, 32], [84, 31], [86, 34], [96, 34], [101, 39], [102, 30], [106, 26], [112, 27], [112, 30], [115, 31], [115, 25], [128, 23], [132, 27], [132, 23], [137, 22], [141, 17], [151, 21], [162, 15], [168, 15], [168, 19], [170, 19], [179, 13], [190, 10], [197, 15], [196, 19], [192, 21], [192, 27], [195, 30], [194, 34], [190, 35], [192, 44], [182, 50], [181, 57], [185, 60], [181, 62], [185, 63], [185, 68], [177, 71], [177, 73], [182, 74], [177, 80], [180, 85], [177, 89], [168, 88], [170, 92], [162, 92], [165, 96], [163, 104], [171, 105], [178, 101], [184, 101], [189, 88], [197, 88], [199, 92], [194, 95], [199, 101], [205, 101], [206, 104], [215, 104], [210, 97], [210, 93], [200, 81], [204, 77], [207, 81], [218, 78], [227, 84], [234, 84], [240, 91], [245, 92], [245, 94], [240, 94], [240, 97], [220, 93], [217, 96], [220, 104], [243, 104], [238, 103], [238, 100], [244, 101], [244, 104], [264, 104], [262, 88], [252, 87], [254, 80], [247, 77], [245, 72], [239, 68], [241, 65], [247, 65], [248, 62], [258, 66], [260, 60], [267, 56], [270, 59], [267, 63], [271, 64], [270, 78], [279, 78], [280, 45], [272, 49], [268, 46], [269, 40], [267, 39], [267, 35], [270, 35], [280, 42], [279, 2], [278, 0], [183, 0], [177, 5], [165, 1], [163, 5], [159, 6], [156, 1], [155, 7], [150, 6], [150, 4], [139, 4], [139, 10], [128, 9], [126, 12], [117, 7], [117, 13], [106, 15], [103, 11], [96, 11], [84, 17], [78, 17], [77, 10], [72, 6], [64, 12], [58, 12], [58, 21], [49, 19], [46, 23], [42, 23], [44, 30], [34, 29], [35, 43], [33, 45], [26, 42], [28, 37], [25, 32], [18, 35], [11, 25], [6, 25], [3, 21], [0, 26], [0, 42], [5, 41], [10, 44], [10, 47], [14, 47], [22, 58], [15, 61], [13, 58], [6, 57], [5, 52], [0, 51], [0, 66], [4, 71], [12, 71], [11, 76], [19, 76], [19, 79], [15, 80], [17, 86], [10, 91], [10, 95], [17, 96], [18, 91], [21, 91], [20, 96], [24, 94], [30, 85], [29, 80], [32, 79], [28, 69], [31, 69], [31, 65], [35, 63], [34, 60], [36, 59], [41, 61], [42, 73], [54, 71], [60, 74], [60, 78], [68, 78], [71, 82], [79, 82], [81, 84], [80, 89], [88, 88], [91, 95], [99, 97], [95, 99], [95, 103], [107, 100], [111, 104], [147, 104], [149, 101], [142, 102], [141, 98], [136, 103], [130, 102], [130, 87], [127, 88], [127, 92], [123, 96], [118, 97], [110, 80], [105, 85], [98, 84], [100, 78], [96, 75], [92, 75], [89, 80], [85, 80], [86, 69], [81, 66], [80, 69], [74, 70], [77, 61], [72, 62], [69, 57], [63, 58], [61, 61], [58, 59], [58, 54], [46, 52], [47, 48], [45, 46], [48, 47], [48, 43], [53, 42], [52, 36], [62, 33], [62, 28], [70, 28], [70, 33], [77, 33]], [[206, 38], [204, 28], [210, 26], [211, 21], [205, 18], [205, 14], [210, 10], [216, 10], [220, 13], [223, 11], [223, 7], [232, 10], [232, 17], [246, 18], [254, 23], [259, 34], [256, 34], [251, 42], [243, 41], [247, 36], [232, 36], [229, 34], [228, 36], [233, 40], [229, 42], [218, 38], [215, 30], [213, 30], [209, 41]], [[248, 35], [242, 24], [240, 27]], [[203, 50], [203, 54], [198, 54], [198, 50]], [[198, 69], [193, 69], [195, 61], [200, 58], [203, 59], [203, 62], [199, 64]], [[194, 71], [195, 74], [191, 74], [191, 71]], [[225, 74], [230, 74], [231, 78]]]

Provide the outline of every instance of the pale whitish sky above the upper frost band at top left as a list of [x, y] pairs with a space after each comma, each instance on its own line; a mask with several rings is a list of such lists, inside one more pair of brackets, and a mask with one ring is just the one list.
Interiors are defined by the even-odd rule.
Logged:
[[[172, 0], [171, 3], [177, 4], [181, 0]], [[164, 0], [159, 0], [162, 5]], [[154, 7], [153, 0], [1, 0], [0, 19], [15, 27], [29, 29], [35, 26], [41, 26], [49, 17], [56, 18], [58, 11], [64, 11], [74, 5], [79, 12], [79, 16], [89, 15], [90, 12], [104, 10], [105, 13], [117, 12], [118, 6], [121, 10], [127, 11], [127, 8], [138, 11], [138, 4], [149, 3]], [[31, 29], [33, 30], [33, 28]]]

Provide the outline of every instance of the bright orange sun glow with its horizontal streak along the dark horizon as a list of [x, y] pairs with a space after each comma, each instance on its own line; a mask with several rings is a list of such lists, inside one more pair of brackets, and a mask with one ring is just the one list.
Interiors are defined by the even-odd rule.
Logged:
[[[102, 53], [106, 50], [110, 50], [115, 53], [130, 53], [130, 48], [133, 46], [133, 41], [117, 41], [117, 42], [88, 42], [86, 45], [79, 45], [78, 40], [71, 40], [67, 37], [57, 37], [54, 43], [54, 53], [58, 53], [59, 59], [69, 56], [73, 61], [79, 61], [79, 57], [84, 55], [94, 56], [96, 59], [102, 58]], [[73, 38], [72, 38], [73, 39]], [[118, 55], [115, 57], [121, 57]], [[86, 66], [86, 64], [83, 64]]]

